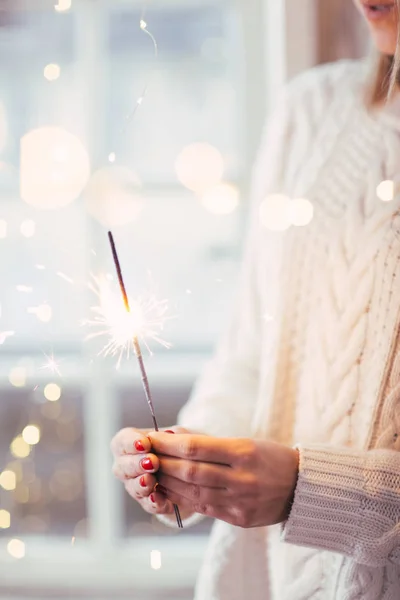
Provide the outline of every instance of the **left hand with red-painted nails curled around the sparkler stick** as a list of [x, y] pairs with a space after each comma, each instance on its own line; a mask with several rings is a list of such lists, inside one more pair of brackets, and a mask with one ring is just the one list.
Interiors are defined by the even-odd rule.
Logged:
[[[171, 433], [186, 432], [182, 427], [172, 427]], [[111, 442], [114, 456], [113, 473], [123, 482], [125, 489], [142, 508], [151, 514], [173, 514], [172, 502], [157, 488], [157, 472], [160, 461], [152, 453], [150, 430], [126, 428], [119, 431]], [[181, 437], [181, 436], [180, 436]], [[182, 518], [193, 514], [189, 503], [181, 502]]]

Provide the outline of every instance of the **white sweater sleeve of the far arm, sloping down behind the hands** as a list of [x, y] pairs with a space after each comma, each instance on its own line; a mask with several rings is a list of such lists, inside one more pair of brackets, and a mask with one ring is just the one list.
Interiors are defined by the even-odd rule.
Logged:
[[[253, 171], [250, 223], [233, 315], [214, 357], [206, 365], [192, 397], [179, 415], [179, 425], [192, 431], [230, 437], [242, 437], [250, 432], [259, 382], [264, 317], [260, 262], [264, 280], [265, 269], [268, 269], [264, 258], [268, 254], [265, 248], [269, 233], [261, 229], [259, 205], [268, 194], [283, 190], [282, 172], [290, 137], [290, 113], [289, 102], [285, 98], [279, 110], [269, 119], [263, 135]], [[280, 235], [271, 232], [272, 238]]]

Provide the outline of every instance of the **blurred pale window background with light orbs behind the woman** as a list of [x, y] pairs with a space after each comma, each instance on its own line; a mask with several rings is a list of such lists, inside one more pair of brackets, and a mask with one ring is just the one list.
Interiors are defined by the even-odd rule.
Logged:
[[111, 475], [114, 433], [151, 421], [135, 361], [87, 340], [107, 229], [130, 294], [168, 299], [145, 360], [171, 425], [229, 316], [277, 92], [365, 41], [350, 0], [0, 0], [1, 598], [192, 597], [211, 523], [166, 529]]

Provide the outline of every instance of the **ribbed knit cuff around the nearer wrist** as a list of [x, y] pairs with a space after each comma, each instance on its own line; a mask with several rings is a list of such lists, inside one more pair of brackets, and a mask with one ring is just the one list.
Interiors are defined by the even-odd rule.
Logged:
[[365, 456], [347, 448], [296, 448], [299, 477], [282, 541], [351, 556], [362, 520]]

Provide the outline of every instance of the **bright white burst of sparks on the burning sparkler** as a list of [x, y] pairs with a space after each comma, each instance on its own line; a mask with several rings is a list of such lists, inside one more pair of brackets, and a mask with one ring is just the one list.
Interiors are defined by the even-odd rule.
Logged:
[[127, 312], [121, 300], [117, 285], [106, 277], [93, 277], [89, 289], [99, 299], [99, 305], [91, 308], [94, 318], [84, 325], [98, 328], [87, 339], [107, 336], [108, 342], [100, 351], [102, 356], [118, 356], [117, 368], [124, 356], [128, 359], [133, 350], [133, 340], [139, 339], [150, 351], [148, 341], [152, 340], [170, 348], [171, 345], [160, 337], [167, 318], [168, 301], [158, 301], [153, 295], [137, 298], [130, 302], [131, 312]]

